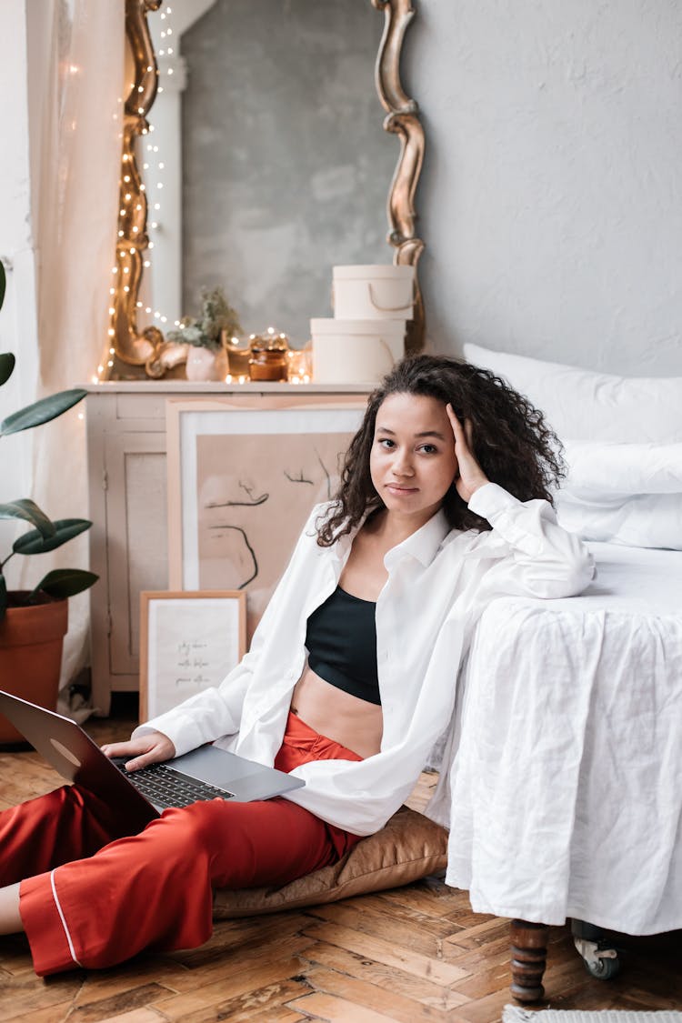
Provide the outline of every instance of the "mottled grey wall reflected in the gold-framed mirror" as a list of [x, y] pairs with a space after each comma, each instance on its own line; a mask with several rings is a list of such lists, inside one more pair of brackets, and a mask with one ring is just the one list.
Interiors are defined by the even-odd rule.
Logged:
[[185, 311], [223, 284], [247, 331], [301, 345], [334, 264], [392, 262], [382, 28], [369, 0], [218, 0], [183, 35]]

